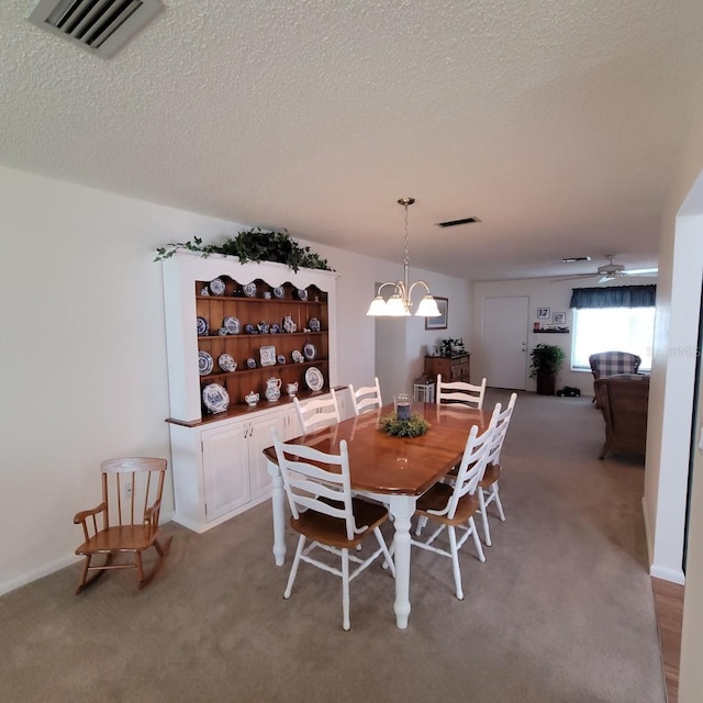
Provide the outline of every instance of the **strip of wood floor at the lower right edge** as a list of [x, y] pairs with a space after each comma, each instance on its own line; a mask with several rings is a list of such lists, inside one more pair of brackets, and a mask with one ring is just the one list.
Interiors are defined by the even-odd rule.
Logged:
[[663, 662], [668, 703], [679, 700], [679, 659], [681, 657], [681, 622], [683, 620], [683, 587], [661, 579], [651, 579]]

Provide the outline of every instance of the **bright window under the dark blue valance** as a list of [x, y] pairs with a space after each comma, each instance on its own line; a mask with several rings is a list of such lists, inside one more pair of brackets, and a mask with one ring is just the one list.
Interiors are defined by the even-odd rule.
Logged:
[[590, 371], [598, 352], [629, 352], [641, 357], [640, 371], [651, 370], [655, 308], [583, 308], [573, 311], [571, 370]]

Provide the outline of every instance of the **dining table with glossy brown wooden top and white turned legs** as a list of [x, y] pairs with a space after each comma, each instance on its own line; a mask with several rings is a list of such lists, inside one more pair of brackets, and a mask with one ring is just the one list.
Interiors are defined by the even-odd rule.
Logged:
[[[328, 454], [339, 453], [347, 440], [352, 490], [389, 506], [394, 526], [395, 622], [408, 627], [410, 616], [411, 518], [417, 498], [456, 466], [464, 454], [469, 431], [482, 432], [491, 413], [465, 405], [413, 403], [412, 412], [427, 420], [429, 428], [421, 437], [394, 437], [378, 428], [379, 419], [390, 414], [392, 405], [344, 420], [330, 427], [290, 439], [288, 444], [315, 447]], [[286, 560], [286, 509], [283, 481], [274, 447], [264, 450], [274, 484], [274, 558]]]

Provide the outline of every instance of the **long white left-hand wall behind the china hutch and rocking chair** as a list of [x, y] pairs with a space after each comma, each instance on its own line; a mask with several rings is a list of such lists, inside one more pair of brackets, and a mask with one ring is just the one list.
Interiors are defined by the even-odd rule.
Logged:
[[[81, 533], [72, 516], [98, 504], [102, 459], [170, 459], [155, 249], [196, 235], [216, 242], [241, 228], [0, 167], [0, 593], [77, 561]], [[308, 244], [341, 275], [339, 382], [366, 384], [375, 373], [375, 321], [366, 310], [375, 282], [398, 278], [402, 263]], [[412, 275], [456, 299], [448, 332], [467, 335], [467, 283]], [[421, 326], [413, 319], [408, 327], [413, 362], [437, 336]], [[400, 359], [413, 378], [408, 365]], [[171, 512], [168, 487], [165, 517]]]

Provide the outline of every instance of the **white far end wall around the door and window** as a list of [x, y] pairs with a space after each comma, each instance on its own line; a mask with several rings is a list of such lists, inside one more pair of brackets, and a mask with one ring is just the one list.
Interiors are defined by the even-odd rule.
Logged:
[[[598, 263], [594, 265], [599, 266]], [[539, 322], [550, 324], [549, 320], [538, 320], [537, 309], [549, 308], [550, 314], [555, 312], [566, 312], [566, 325], [573, 330], [572, 311], [569, 309], [571, 293], [574, 288], [589, 288], [595, 286], [596, 279], [580, 279], [571, 281], [551, 282], [547, 278], [532, 278], [506, 281], [477, 281], [473, 283], [473, 314], [471, 328], [471, 346], [473, 356], [471, 357], [471, 375], [475, 378], [486, 376], [486, 355], [490, 349], [483, 346], [483, 305], [487, 298], [503, 298], [513, 295], [526, 295], [529, 299], [529, 332], [527, 334], [527, 353], [525, 354], [525, 373], [529, 376], [529, 352], [537, 344], [554, 344], [563, 349], [567, 358], [563, 361], [561, 371], [557, 377], [557, 388], [571, 386], [581, 389], [582, 395], [593, 395], [593, 376], [590, 371], [572, 371], [570, 369], [572, 334], [534, 334], [533, 323]], [[657, 283], [656, 277], [636, 277], [627, 279], [615, 279], [603, 283], [604, 288], [611, 286], [649, 286]], [[491, 384], [491, 379], [488, 379]], [[535, 391], [536, 379], [527, 378], [527, 390]]]

